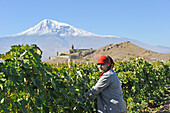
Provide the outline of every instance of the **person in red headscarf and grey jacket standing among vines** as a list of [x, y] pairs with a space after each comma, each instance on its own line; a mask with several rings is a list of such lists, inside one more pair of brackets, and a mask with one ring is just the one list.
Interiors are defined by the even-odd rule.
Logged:
[[97, 60], [100, 79], [85, 95], [87, 100], [97, 98], [99, 113], [125, 113], [126, 104], [118, 76], [112, 70], [114, 62], [110, 56], [102, 55]]

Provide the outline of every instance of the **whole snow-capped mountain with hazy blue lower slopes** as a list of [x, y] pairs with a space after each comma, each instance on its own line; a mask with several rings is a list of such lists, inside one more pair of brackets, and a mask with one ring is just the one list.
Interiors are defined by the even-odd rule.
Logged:
[[45, 19], [28, 30], [6, 37], [0, 37], [0, 54], [9, 51], [12, 45], [37, 44], [43, 51], [43, 60], [56, 56], [56, 52], [75, 48], [98, 49], [109, 44], [130, 41], [140, 47], [159, 53], [170, 53], [170, 48], [148, 45], [146, 43], [116, 36], [96, 35], [71, 25]]

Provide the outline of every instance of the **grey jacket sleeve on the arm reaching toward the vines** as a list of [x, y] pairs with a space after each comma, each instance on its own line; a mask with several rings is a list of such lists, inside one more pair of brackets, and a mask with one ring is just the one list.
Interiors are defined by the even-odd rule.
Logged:
[[84, 97], [87, 100], [94, 99], [96, 95], [98, 95], [102, 90], [104, 90], [110, 83], [110, 75], [103, 74], [103, 76], [99, 79], [99, 81], [93, 86], [85, 95]]

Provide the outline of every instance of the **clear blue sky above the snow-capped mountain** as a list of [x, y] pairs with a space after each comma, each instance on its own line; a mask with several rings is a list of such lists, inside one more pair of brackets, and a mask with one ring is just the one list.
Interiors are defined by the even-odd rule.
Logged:
[[170, 0], [0, 0], [0, 37], [44, 19], [170, 47]]

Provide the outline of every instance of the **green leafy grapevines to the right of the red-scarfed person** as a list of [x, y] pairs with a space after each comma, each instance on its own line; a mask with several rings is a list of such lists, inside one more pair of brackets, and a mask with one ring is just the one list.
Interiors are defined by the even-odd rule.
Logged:
[[170, 63], [149, 63], [144, 59], [118, 62], [114, 67], [124, 91], [129, 111], [141, 112], [147, 107], [159, 104], [170, 83]]

